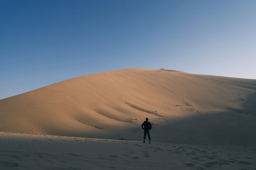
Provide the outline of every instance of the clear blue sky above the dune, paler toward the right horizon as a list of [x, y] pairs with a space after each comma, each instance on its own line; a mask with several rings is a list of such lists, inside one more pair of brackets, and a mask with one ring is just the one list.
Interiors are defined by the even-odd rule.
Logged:
[[0, 99], [122, 68], [256, 79], [256, 0], [0, 0]]

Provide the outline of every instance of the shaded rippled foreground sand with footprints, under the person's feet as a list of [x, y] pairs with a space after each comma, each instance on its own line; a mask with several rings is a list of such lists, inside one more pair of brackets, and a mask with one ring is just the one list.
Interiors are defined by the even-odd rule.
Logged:
[[256, 147], [0, 132], [1, 170], [256, 170]]

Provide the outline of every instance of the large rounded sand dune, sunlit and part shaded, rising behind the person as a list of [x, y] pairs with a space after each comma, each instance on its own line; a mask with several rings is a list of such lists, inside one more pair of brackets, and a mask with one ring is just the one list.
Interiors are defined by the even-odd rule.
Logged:
[[0, 100], [0, 131], [256, 144], [256, 80], [172, 70], [122, 69], [80, 76]]

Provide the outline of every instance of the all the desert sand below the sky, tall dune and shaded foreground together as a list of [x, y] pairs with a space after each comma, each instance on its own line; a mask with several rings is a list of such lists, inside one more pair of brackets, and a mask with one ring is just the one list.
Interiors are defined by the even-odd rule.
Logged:
[[255, 103], [254, 79], [144, 68], [72, 78], [0, 100], [0, 169], [256, 170]]

